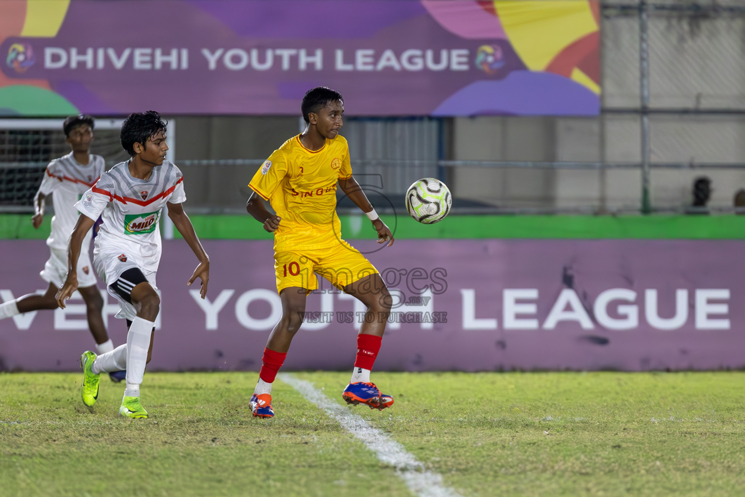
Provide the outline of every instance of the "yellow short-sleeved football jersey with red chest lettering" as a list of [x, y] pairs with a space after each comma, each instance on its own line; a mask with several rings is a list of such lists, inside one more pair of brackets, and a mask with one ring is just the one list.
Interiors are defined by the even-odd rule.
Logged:
[[248, 184], [282, 218], [274, 232], [274, 250], [318, 249], [338, 243], [337, 181], [351, 176], [349, 147], [343, 136], [326, 139], [323, 148], [311, 151], [298, 135], [274, 151]]

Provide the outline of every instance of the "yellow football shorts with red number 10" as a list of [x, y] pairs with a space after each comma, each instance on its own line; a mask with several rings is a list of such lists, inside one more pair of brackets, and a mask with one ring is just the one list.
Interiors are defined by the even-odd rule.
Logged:
[[343, 240], [331, 248], [275, 252], [274, 271], [278, 292], [291, 286], [305, 288], [308, 292], [317, 290], [318, 278], [314, 273], [340, 290], [378, 273], [373, 263]]

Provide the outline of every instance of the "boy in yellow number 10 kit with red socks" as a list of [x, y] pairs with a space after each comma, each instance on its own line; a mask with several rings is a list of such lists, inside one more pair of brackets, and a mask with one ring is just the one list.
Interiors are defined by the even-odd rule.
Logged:
[[[326, 86], [308, 90], [301, 110], [305, 130], [274, 151], [248, 185], [253, 193], [246, 210], [274, 233], [274, 270], [282, 300], [282, 319], [269, 335], [250, 400], [255, 417], [274, 416], [272, 382], [302, 324], [305, 298], [318, 288], [314, 273], [367, 306], [357, 335], [352, 379], [343, 399], [375, 409], [393, 405], [393, 397], [380, 393], [370, 382], [392, 299], [378, 270], [340, 238], [337, 186], [370, 218], [378, 243], [388, 242], [390, 247], [393, 235], [352, 177], [349, 147], [339, 136], [344, 113], [341, 94]], [[264, 200], [269, 200], [276, 215], [267, 210]]]

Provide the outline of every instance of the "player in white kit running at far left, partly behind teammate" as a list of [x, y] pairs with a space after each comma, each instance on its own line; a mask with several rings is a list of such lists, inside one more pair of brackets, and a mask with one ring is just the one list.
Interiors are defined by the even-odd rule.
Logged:
[[[65, 119], [62, 127], [66, 136], [65, 141], [72, 148], [72, 152], [49, 162], [42, 184], [34, 197], [34, 217], [31, 218], [31, 223], [38, 229], [44, 219], [46, 197], [54, 193], [54, 217], [51, 218], [51, 232], [47, 238], [50, 256], [44, 270], [39, 273], [42, 279], [49, 283], [49, 287], [43, 295], [28, 294], [0, 304], [0, 319], [23, 312], [57, 308], [54, 295], [67, 276], [67, 239], [75, 227], [78, 216], [75, 202], [104, 172], [104, 158], [90, 153], [94, 124], [90, 115], [71, 115]], [[101, 315], [104, 300], [96, 286], [95, 271], [89, 256], [90, 242], [89, 231], [83, 238], [80, 264], [77, 265], [77, 290], [86, 303], [88, 326], [96, 342], [96, 349], [99, 354], [103, 354], [112, 351], [114, 344], [107, 335], [104, 318]], [[121, 381], [123, 377], [121, 371], [111, 373], [111, 379], [115, 382]]]

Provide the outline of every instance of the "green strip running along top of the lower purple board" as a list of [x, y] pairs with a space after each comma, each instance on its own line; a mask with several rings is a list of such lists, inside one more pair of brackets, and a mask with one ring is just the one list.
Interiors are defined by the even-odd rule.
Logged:
[[[269, 240], [270, 233], [248, 215], [190, 215], [204, 239]], [[580, 216], [580, 215], [451, 215], [437, 224], [419, 224], [408, 216], [383, 215], [399, 239], [534, 238], [534, 239], [745, 239], [745, 216]], [[340, 216], [344, 238], [375, 238], [363, 215]], [[28, 214], [0, 214], [0, 239], [43, 239], [49, 216], [39, 229]], [[178, 232], [175, 233], [177, 238]]]

